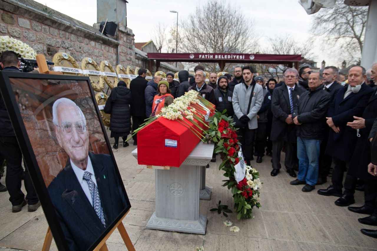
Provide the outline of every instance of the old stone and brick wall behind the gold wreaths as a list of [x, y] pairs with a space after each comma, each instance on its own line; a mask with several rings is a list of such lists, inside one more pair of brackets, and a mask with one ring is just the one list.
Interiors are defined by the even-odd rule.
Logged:
[[[21, 40], [48, 60], [66, 52], [81, 64], [91, 57], [98, 64], [108, 60], [113, 67], [135, 66], [132, 30], [118, 29], [118, 41], [97, 29], [31, 0], [0, 0], [0, 35]], [[137, 66], [137, 65], [136, 65]]]

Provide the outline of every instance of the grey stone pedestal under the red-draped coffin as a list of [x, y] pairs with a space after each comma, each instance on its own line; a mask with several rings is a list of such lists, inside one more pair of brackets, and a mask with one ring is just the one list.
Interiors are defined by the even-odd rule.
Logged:
[[[212, 158], [213, 144], [200, 142], [179, 168], [156, 169], [156, 211], [146, 228], [205, 234], [207, 216], [199, 215], [203, 167]], [[137, 149], [132, 152], [137, 158]]]

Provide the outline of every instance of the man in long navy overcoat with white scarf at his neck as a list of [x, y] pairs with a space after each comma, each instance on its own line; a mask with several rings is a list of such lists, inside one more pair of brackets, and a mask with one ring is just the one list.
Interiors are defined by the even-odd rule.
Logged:
[[[327, 189], [320, 189], [318, 193], [325, 196], [341, 197], [335, 204], [348, 206], [355, 203], [353, 195], [343, 194], [343, 175], [349, 168], [354, 153], [359, 132], [347, 126], [355, 117], [361, 117], [373, 89], [365, 84], [366, 70], [362, 66], [354, 66], [348, 72], [348, 85], [342, 87], [334, 96], [327, 113], [328, 127], [330, 127], [326, 154], [332, 156], [334, 169], [331, 177], [333, 184]], [[352, 176], [347, 176], [352, 178]], [[352, 184], [353, 181], [347, 181]]]

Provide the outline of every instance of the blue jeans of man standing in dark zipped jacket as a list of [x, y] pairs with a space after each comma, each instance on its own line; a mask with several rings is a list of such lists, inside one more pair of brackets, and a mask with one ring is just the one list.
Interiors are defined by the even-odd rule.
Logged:
[[297, 179], [314, 186], [318, 179], [320, 139], [305, 139], [297, 137], [297, 158], [299, 173]]

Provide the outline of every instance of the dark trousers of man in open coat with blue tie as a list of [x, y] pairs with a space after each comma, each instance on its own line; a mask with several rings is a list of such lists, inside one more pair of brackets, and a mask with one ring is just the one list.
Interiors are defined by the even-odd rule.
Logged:
[[272, 141], [272, 168], [280, 169], [282, 168], [280, 164], [280, 155], [285, 146], [285, 167], [288, 169], [293, 169], [294, 165], [297, 164], [297, 143], [288, 141]]

